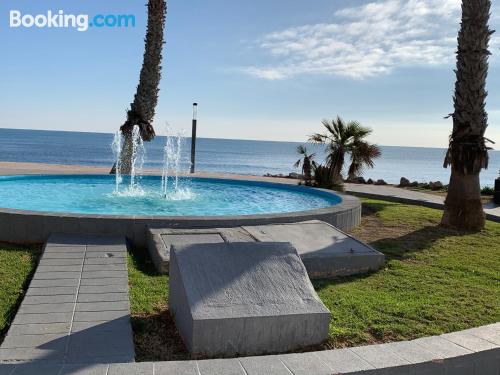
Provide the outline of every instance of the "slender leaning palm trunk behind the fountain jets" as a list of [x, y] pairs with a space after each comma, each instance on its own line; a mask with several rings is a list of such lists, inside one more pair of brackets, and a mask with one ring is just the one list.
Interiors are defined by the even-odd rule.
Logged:
[[127, 119], [120, 127], [124, 137], [120, 159], [122, 174], [130, 174], [133, 149], [132, 129], [134, 126], [139, 126], [140, 135], [144, 141], [151, 141], [155, 137], [151, 122], [158, 102], [166, 14], [167, 3], [165, 0], [148, 0], [148, 24], [139, 85], [134, 101], [127, 111]]

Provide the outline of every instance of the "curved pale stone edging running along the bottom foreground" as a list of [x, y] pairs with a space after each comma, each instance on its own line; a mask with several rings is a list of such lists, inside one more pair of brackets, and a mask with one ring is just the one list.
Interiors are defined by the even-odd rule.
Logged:
[[[1, 374], [25, 375], [498, 375], [500, 323], [412, 341], [320, 352], [200, 361], [56, 365], [3, 364]], [[19, 370], [18, 370], [19, 369]]]

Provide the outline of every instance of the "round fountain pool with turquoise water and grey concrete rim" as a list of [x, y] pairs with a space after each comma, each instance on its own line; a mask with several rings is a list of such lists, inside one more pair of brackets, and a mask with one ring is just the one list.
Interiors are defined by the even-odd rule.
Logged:
[[148, 228], [222, 228], [322, 220], [361, 221], [358, 198], [294, 184], [181, 178], [177, 190], [143, 176], [116, 191], [109, 175], [0, 176], [0, 241], [42, 243], [52, 233], [127, 237], [145, 247]]

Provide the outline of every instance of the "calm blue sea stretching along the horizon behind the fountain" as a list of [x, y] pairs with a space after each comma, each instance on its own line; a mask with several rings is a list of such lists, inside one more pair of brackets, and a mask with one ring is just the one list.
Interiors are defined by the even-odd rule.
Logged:
[[[113, 134], [0, 128], [0, 161], [39, 162], [112, 166]], [[146, 143], [145, 168], [161, 168], [166, 137], [158, 136]], [[191, 139], [183, 141], [182, 168], [189, 170]], [[248, 175], [267, 173], [287, 175], [300, 172], [293, 164], [299, 159], [297, 146], [305, 144], [323, 162], [321, 146], [300, 142], [250, 141], [238, 139], [198, 138], [196, 170]], [[399, 183], [401, 177], [411, 181], [447, 183], [450, 170], [443, 168], [444, 148], [381, 146], [382, 156], [363, 177]], [[500, 151], [490, 152], [490, 166], [481, 172], [481, 185], [493, 186], [499, 176]]]

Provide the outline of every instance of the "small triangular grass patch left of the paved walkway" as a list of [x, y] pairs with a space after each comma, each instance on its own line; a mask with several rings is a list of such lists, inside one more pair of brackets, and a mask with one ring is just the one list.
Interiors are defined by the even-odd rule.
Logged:
[[38, 249], [0, 243], [0, 342], [28, 288], [38, 256]]

